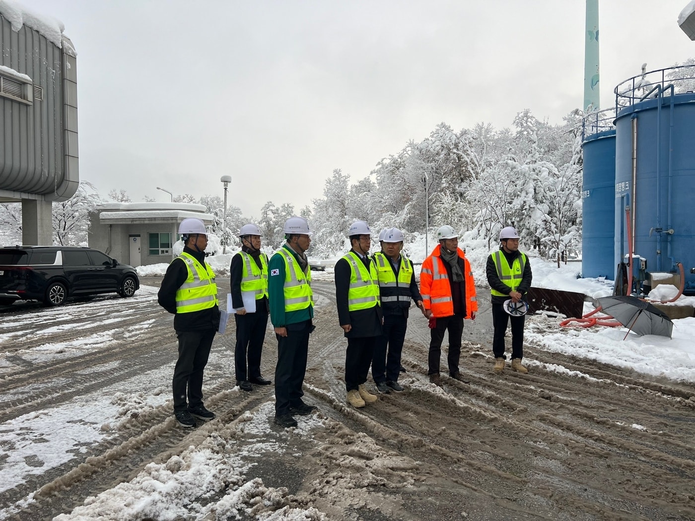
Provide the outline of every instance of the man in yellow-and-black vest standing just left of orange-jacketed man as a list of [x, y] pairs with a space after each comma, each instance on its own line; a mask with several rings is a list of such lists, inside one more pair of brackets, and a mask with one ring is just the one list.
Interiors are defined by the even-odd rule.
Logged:
[[423, 314], [425, 306], [415, 280], [413, 263], [401, 253], [405, 239], [403, 232], [398, 228], [386, 228], [379, 235], [382, 250], [372, 259], [377, 266], [384, 325], [374, 350], [372, 377], [379, 393], [400, 392], [403, 386], [398, 383], [398, 376], [410, 301], [414, 300]]

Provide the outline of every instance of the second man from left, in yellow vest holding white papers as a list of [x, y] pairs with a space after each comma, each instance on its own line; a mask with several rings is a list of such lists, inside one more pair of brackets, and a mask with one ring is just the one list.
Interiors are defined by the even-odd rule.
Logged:
[[[261, 376], [261, 351], [268, 325], [268, 257], [261, 252], [261, 230], [253, 223], [239, 230], [241, 251], [231, 257], [231, 305], [236, 323], [234, 370], [236, 384], [242, 391], [253, 391], [253, 386], [270, 385]], [[247, 310], [244, 298], [254, 304]], [[230, 310], [231, 311], [231, 310]]]

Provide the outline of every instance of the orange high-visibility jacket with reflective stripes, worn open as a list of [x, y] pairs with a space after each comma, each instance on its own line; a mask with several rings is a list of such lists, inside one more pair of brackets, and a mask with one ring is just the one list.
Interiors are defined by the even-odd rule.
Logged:
[[[449, 275], [440, 253], [441, 246], [438, 245], [432, 251], [432, 255], [425, 259], [423, 268], [420, 271], [420, 293], [423, 296], [423, 304], [425, 309], [430, 309], [435, 317], [452, 316], [454, 314], [454, 301], [451, 296]], [[466, 283], [465, 318], [470, 318], [471, 313], [477, 311], [475, 282], [473, 282], [471, 263], [468, 262], [461, 248], [457, 248], [457, 253], [461, 259], [464, 259], [464, 281]]]

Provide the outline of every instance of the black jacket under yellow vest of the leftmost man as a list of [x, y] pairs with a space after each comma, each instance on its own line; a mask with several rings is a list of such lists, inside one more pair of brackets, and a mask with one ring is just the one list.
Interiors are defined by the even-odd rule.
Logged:
[[[205, 253], [199, 253], [188, 247], [183, 248], [183, 251], [190, 253], [200, 264], [205, 265]], [[187, 278], [186, 263], [177, 257], [169, 264], [157, 293], [159, 305], [174, 315], [174, 330], [184, 332], [218, 329], [220, 309], [217, 306], [190, 313], [176, 312], [176, 292]]]

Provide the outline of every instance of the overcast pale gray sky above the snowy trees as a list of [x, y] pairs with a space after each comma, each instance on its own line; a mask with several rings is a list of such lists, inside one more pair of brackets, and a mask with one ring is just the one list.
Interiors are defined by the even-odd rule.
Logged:
[[[613, 88], [695, 56], [688, 0], [599, 0]], [[583, 100], [582, 0], [22, 0], [77, 51], [80, 176], [106, 196], [223, 195], [299, 212], [437, 123], [560, 123]]]

